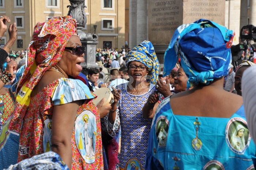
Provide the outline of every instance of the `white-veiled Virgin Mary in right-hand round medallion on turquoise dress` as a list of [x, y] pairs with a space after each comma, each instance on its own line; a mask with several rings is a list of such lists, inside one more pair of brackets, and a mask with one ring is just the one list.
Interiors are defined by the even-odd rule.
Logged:
[[237, 124], [235, 131], [233, 132], [230, 143], [234, 149], [237, 151], [244, 150], [248, 137], [245, 138], [245, 135], [248, 134], [248, 129], [241, 124]]

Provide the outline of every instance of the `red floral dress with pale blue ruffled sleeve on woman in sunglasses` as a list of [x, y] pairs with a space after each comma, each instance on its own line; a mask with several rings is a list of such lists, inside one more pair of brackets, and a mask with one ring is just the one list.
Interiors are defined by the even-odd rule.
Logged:
[[89, 88], [80, 80], [61, 78], [31, 97], [21, 128], [18, 162], [51, 151], [52, 113], [54, 105], [85, 100], [76, 113], [71, 139], [72, 169], [103, 170], [101, 122]]

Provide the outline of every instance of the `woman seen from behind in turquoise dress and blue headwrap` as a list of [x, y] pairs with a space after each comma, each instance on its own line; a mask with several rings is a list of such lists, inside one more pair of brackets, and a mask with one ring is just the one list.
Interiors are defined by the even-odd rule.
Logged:
[[256, 146], [242, 98], [223, 90], [231, 67], [232, 33], [203, 19], [174, 32], [163, 70], [169, 73], [180, 55], [187, 89], [194, 88], [159, 104], [150, 130], [147, 170], [255, 169]]

